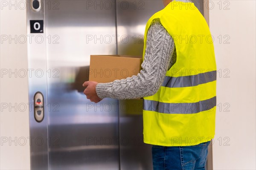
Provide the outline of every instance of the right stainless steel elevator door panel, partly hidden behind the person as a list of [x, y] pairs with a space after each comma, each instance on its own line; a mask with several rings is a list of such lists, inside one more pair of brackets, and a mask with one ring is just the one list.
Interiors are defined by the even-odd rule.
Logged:
[[[203, 14], [202, 1], [192, 2]], [[163, 8], [162, 0], [118, 1], [116, 11], [118, 54], [143, 55], [145, 25], [155, 12]], [[142, 108], [142, 99], [119, 101], [121, 170], [153, 169], [151, 145], [143, 143]]]

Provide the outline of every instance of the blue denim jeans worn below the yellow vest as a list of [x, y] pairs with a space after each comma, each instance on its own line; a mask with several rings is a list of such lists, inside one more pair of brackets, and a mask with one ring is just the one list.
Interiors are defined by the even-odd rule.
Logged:
[[205, 170], [208, 145], [152, 146], [154, 170]]

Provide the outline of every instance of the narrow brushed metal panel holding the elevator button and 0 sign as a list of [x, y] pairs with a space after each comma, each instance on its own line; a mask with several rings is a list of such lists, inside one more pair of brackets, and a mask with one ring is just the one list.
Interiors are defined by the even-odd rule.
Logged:
[[[44, 1], [41, 1], [43, 4]], [[44, 20], [44, 6], [33, 10], [32, 1], [27, 5], [28, 34], [28, 75], [29, 75], [29, 133], [30, 133], [30, 166], [32, 170], [48, 169], [48, 114], [44, 106], [44, 119], [38, 123], [34, 116], [34, 95], [40, 91], [47, 103], [47, 59], [44, 33], [30, 33], [29, 20]], [[45, 30], [45, 25], [44, 25]], [[29, 40], [30, 39], [30, 40]]]

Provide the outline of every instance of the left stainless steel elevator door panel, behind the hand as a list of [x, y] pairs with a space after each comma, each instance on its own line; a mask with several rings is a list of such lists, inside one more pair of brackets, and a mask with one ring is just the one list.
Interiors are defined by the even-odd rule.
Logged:
[[[46, 0], [49, 169], [119, 169], [118, 101], [90, 102], [91, 54], [116, 54], [114, 6], [102, 0]], [[97, 6], [98, 5], [98, 6]], [[108, 5], [108, 4], [105, 4]], [[114, 5], [114, 3], [113, 3]], [[105, 37], [105, 39], [104, 39]]]

